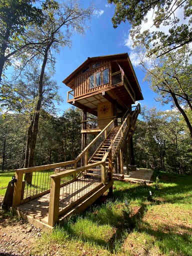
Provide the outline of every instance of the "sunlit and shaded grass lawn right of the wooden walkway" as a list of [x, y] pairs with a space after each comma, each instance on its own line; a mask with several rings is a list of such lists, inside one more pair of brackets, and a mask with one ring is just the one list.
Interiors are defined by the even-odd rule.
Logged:
[[[113, 198], [44, 233], [31, 255], [192, 255], [192, 176], [114, 181]], [[151, 191], [151, 195], [149, 193]]]

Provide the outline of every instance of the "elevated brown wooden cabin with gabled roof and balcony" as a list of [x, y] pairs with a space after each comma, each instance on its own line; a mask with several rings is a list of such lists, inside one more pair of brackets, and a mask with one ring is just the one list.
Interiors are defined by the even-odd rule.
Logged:
[[[67, 102], [83, 110], [82, 134], [98, 134], [114, 117], [122, 117], [131, 104], [143, 99], [127, 53], [88, 57], [62, 82], [71, 89]], [[87, 118], [87, 113], [93, 116]]]

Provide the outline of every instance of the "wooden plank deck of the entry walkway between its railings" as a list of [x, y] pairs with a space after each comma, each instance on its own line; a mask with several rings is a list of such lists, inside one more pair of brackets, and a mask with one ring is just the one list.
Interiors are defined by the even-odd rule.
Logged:
[[[71, 182], [60, 188], [59, 194], [59, 211], [64, 211], [69, 205], [78, 202], [83, 195], [89, 194], [101, 185], [98, 180], [88, 179], [85, 177], [78, 178], [75, 182]], [[15, 206], [17, 214], [25, 218], [32, 218], [37, 221], [48, 223], [50, 193], [31, 199], [23, 204]], [[29, 219], [28, 219], [29, 220]]]

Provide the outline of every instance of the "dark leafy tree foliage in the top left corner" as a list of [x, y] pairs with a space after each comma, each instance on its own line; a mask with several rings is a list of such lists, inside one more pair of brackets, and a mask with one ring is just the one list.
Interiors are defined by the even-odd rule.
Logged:
[[10, 57], [27, 44], [22, 37], [27, 26], [42, 24], [42, 10], [34, 0], [0, 1], [0, 83], [3, 68], [10, 65]]

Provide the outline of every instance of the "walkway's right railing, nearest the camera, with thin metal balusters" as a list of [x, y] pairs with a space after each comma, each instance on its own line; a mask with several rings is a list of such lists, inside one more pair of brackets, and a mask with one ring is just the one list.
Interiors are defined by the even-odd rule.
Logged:
[[[104, 167], [105, 162], [98, 161], [50, 175], [48, 225], [54, 226], [58, 222], [59, 215], [65, 213], [79, 199], [83, 199], [105, 182]], [[94, 170], [92, 175], [86, 174], [87, 169]], [[98, 170], [97, 173], [96, 170]], [[61, 185], [62, 189], [60, 189]]]

